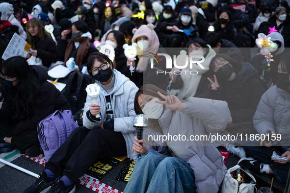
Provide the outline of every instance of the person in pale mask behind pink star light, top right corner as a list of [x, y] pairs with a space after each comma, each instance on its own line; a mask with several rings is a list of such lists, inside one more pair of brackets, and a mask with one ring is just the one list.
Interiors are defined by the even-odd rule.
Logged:
[[268, 22], [264, 22], [260, 25], [258, 33], [268, 34], [269, 27], [275, 27], [278, 33], [283, 36], [284, 42], [287, 42], [290, 36], [290, 15], [287, 13], [285, 7], [277, 7]]

